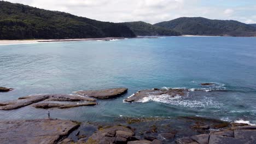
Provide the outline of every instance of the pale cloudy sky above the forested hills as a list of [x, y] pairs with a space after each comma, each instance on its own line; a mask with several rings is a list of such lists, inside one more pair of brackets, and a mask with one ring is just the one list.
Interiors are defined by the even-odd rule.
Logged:
[[[5, 0], [8, 1], [8, 0]], [[110, 22], [157, 23], [178, 17], [256, 23], [256, 0], [9, 0]]]

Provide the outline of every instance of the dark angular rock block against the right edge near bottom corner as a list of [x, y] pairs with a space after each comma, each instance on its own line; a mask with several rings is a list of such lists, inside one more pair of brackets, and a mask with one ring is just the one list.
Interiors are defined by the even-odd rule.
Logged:
[[235, 130], [234, 135], [236, 139], [246, 139], [246, 140], [251, 140], [255, 141], [256, 143], [256, 130]]

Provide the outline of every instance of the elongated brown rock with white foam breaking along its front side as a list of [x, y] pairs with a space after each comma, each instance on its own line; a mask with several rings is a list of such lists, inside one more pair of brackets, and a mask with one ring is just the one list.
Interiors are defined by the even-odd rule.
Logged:
[[176, 95], [184, 96], [188, 93], [187, 89], [146, 89], [143, 91], [138, 91], [132, 97], [125, 99], [126, 102], [133, 102], [142, 100], [143, 98], [149, 97], [149, 95], [161, 96], [163, 94], [168, 94], [170, 97], [176, 97]]

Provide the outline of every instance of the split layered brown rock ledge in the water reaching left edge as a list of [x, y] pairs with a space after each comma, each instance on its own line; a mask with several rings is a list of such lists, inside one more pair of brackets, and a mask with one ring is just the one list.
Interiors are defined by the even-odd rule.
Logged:
[[[28, 95], [25, 97], [20, 97], [18, 100], [0, 102], [0, 110], [13, 110], [19, 109], [33, 103], [38, 103], [43, 100], [58, 100], [58, 101], [96, 101], [92, 98], [80, 97], [78, 95], [66, 95], [66, 94], [38, 94], [38, 95]], [[76, 106], [85, 105], [96, 105], [97, 103], [83, 103], [83, 104], [56, 104], [56, 103], [44, 103], [38, 104], [35, 107], [48, 109], [50, 107], [59, 107], [60, 109], [66, 109]], [[47, 108], [48, 107], [48, 108]]]

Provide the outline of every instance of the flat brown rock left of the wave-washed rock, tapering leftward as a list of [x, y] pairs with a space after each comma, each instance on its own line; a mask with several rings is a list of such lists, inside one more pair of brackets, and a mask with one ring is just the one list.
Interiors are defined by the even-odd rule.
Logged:
[[91, 90], [91, 91], [77, 91], [75, 93], [86, 95], [88, 97], [94, 97], [97, 99], [110, 99], [126, 93], [127, 90], [128, 88], [112, 88], [112, 89]]

